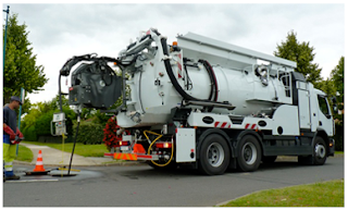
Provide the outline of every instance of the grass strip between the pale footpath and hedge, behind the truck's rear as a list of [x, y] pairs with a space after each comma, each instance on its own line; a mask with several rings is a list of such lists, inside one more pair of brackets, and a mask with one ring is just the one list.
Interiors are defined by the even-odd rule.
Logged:
[[[48, 146], [54, 149], [64, 150], [66, 152], [73, 151], [74, 143], [65, 143], [64, 146], [61, 143], [38, 143], [38, 141], [24, 141], [32, 145]], [[84, 145], [76, 143], [75, 152], [83, 157], [103, 157], [104, 152], [109, 152], [105, 145]]]

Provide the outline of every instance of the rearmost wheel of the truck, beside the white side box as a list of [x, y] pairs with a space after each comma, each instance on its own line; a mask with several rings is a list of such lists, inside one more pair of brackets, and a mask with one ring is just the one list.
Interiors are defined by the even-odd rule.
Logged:
[[199, 170], [207, 175], [225, 173], [231, 159], [226, 140], [219, 134], [210, 134], [200, 147]]

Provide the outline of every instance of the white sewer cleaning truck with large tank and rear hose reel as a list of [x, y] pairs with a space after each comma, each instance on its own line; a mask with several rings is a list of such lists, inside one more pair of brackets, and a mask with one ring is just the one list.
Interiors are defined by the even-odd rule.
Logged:
[[216, 175], [277, 156], [315, 165], [334, 156], [327, 96], [295, 62], [192, 33], [176, 38], [169, 45], [151, 28], [116, 59], [73, 57], [60, 71], [67, 76], [87, 61], [71, 75], [69, 101], [116, 115], [115, 159]]

